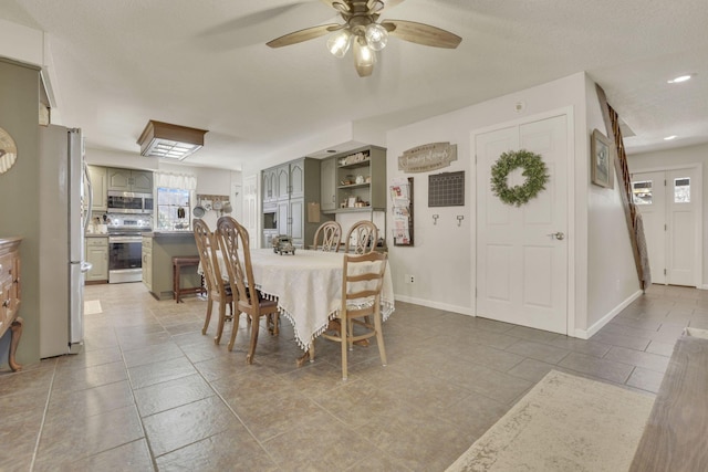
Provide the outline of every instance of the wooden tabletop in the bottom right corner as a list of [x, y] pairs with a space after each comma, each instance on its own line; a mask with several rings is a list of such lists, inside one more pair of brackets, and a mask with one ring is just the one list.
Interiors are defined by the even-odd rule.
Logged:
[[707, 471], [708, 339], [681, 336], [674, 347], [632, 472]]

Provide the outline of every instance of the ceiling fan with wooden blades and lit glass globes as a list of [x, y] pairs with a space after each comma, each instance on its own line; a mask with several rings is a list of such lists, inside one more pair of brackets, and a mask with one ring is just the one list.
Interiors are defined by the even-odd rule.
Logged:
[[376, 51], [386, 46], [388, 36], [434, 48], [455, 49], [462, 41], [457, 34], [430, 24], [405, 20], [383, 20], [378, 17], [404, 0], [321, 0], [340, 13], [344, 24], [305, 28], [269, 41], [271, 48], [282, 48], [330, 34], [327, 49], [336, 57], [353, 48], [354, 66], [361, 77], [374, 71]]

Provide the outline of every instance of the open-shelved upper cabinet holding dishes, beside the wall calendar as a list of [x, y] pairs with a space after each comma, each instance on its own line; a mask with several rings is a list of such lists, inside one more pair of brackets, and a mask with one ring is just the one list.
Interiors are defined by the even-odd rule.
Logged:
[[386, 149], [367, 146], [336, 160], [335, 213], [386, 210]]

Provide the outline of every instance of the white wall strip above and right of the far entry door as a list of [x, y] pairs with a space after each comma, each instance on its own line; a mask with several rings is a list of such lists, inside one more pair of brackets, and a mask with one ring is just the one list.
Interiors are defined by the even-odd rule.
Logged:
[[[708, 145], [687, 146], [675, 149], [657, 150], [652, 153], [633, 154], [627, 157], [631, 172], [650, 171], [663, 168], [676, 168], [702, 164], [702, 181], [708, 182]], [[701, 234], [704, 260], [701, 289], [708, 290], [708, 240], [704, 237], [708, 233], [708, 192], [702, 192], [704, 228]]]

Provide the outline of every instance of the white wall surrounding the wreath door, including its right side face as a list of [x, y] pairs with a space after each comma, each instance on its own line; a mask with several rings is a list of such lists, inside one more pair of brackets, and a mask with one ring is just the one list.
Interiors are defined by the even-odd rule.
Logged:
[[[481, 130], [558, 109], [571, 111], [575, 139], [574, 156], [570, 156], [572, 161], [569, 162], [575, 176], [574, 181], [569, 182], [569, 201], [574, 209], [568, 234], [569, 283], [574, 287], [569, 297], [569, 310], [574, 316], [570, 324], [574, 324], [571, 335], [586, 337], [598, 321], [614, 314], [614, 310], [636, 292], [638, 282], [636, 272], [632, 272], [634, 262], [617, 190], [611, 196], [589, 190], [589, 136], [592, 132], [589, 119], [592, 127], [602, 124], [596, 95], [590, 95], [589, 90], [594, 90], [594, 84], [584, 73], [579, 73], [388, 132], [387, 178], [414, 177], [415, 188], [415, 245], [394, 247], [391, 235], [386, 235], [397, 298], [475, 314], [476, 169], [470, 143]], [[519, 104], [523, 107], [521, 113], [518, 112]], [[589, 104], [592, 116], [586, 116]], [[403, 151], [434, 141], [457, 145], [458, 160], [430, 174], [465, 170], [465, 207], [428, 208], [428, 174], [403, 174], [397, 169], [397, 157]], [[434, 213], [439, 214], [437, 224], [433, 223]], [[464, 217], [461, 227], [458, 227], [458, 214]], [[603, 244], [603, 240], [596, 238], [596, 229], [605, 225], [612, 227], [605, 237], [616, 242]], [[590, 259], [593, 259], [592, 264]], [[406, 284], [405, 274], [414, 275], [415, 283]], [[610, 293], [605, 280], [612, 281]]]

